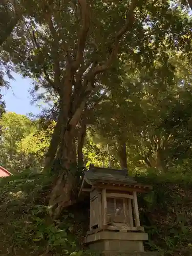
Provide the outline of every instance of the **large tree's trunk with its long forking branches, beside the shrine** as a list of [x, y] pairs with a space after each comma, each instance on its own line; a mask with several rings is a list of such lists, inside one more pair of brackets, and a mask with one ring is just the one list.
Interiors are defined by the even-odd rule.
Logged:
[[[89, 61], [86, 61], [86, 58], [83, 56], [86, 44], [90, 40], [90, 38], [89, 40], [87, 38], [91, 20], [90, 5], [86, 0], [78, 0], [77, 3], [81, 12], [81, 26], [77, 32], [77, 47], [74, 49], [75, 54], [73, 57], [70, 53], [71, 49], [68, 49], [68, 44], [65, 44], [65, 42], [62, 44], [62, 50], [66, 53], [65, 75], [63, 75], [63, 78], [61, 79], [58, 56], [54, 57], [53, 82], [44, 68], [44, 73], [48, 82], [51, 82], [53, 88], [60, 96], [62, 110], [62, 124], [58, 125], [59, 132], [57, 133], [55, 131], [55, 134], [60, 134], [60, 137], [56, 136], [56, 143], [54, 143], [54, 140], [52, 139], [47, 157], [48, 161], [46, 163], [46, 166], [52, 164], [56, 155], [58, 162], [60, 162], [60, 173], [57, 176], [55, 186], [53, 187], [50, 196], [50, 206], [52, 206], [50, 213], [53, 219], [56, 219], [60, 215], [62, 208], [69, 205], [72, 198], [71, 191], [73, 190], [73, 185], [75, 183], [76, 172], [76, 169], [72, 168], [74, 160], [74, 157], [72, 157], [74, 155], [73, 142], [76, 125], [80, 121], [86, 102], [95, 88], [94, 81], [96, 75], [110, 68], [113, 59], [117, 56], [119, 42], [122, 36], [133, 26], [134, 10], [136, 8], [135, 1], [133, 1], [129, 8], [127, 8], [125, 24], [114, 34], [110, 54], [108, 52], [106, 53], [106, 58], [103, 59], [104, 61], [102, 60], [101, 62], [98, 62], [97, 59], [94, 59], [90, 63]], [[58, 38], [58, 33], [52, 22], [51, 9], [46, 16], [54, 42], [58, 44], [60, 39]], [[81, 148], [81, 146], [82, 143], [79, 147]], [[79, 158], [81, 158], [82, 161], [82, 156], [79, 155]], [[125, 166], [125, 163], [123, 166]]]

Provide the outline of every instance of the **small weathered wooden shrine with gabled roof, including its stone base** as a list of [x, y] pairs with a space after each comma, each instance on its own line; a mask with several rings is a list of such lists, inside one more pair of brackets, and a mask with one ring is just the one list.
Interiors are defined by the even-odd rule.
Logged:
[[103, 253], [144, 252], [147, 233], [140, 225], [137, 192], [151, 186], [138, 183], [127, 170], [90, 165], [79, 196], [90, 193], [90, 230], [85, 243]]

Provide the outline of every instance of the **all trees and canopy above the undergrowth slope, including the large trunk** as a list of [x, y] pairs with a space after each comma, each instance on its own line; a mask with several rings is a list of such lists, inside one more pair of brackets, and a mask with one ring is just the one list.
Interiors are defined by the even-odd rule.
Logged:
[[189, 172], [190, 4], [1, 2], [1, 86], [17, 72], [49, 106], [30, 118], [6, 113], [0, 98], [1, 165], [55, 174], [53, 218], [91, 162], [132, 175]]

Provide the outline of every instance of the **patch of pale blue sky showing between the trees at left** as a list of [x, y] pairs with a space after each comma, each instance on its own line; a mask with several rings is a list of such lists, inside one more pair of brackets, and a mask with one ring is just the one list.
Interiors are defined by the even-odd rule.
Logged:
[[40, 109], [37, 105], [31, 105], [29, 89], [32, 88], [32, 80], [23, 78], [21, 75], [13, 73], [15, 80], [10, 80], [10, 89], [3, 89], [1, 93], [6, 102], [6, 110], [26, 115], [29, 112], [38, 114]]

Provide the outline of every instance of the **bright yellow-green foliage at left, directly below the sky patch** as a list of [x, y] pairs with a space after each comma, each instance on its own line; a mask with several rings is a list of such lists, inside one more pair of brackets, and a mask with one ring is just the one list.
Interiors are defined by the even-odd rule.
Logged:
[[[37, 130], [37, 122], [31, 121], [25, 115], [8, 112], [2, 115], [1, 125], [1, 165], [11, 172], [23, 172], [25, 169], [35, 168], [40, 171], [41, 159], [35, 151], [35, 140], [31, 137], [30, 148], [26, 146], [28, 138]], [[40, 144], [41, 142], [39, 142]], [[43, 144], [42, 144], [43, 147]]]

